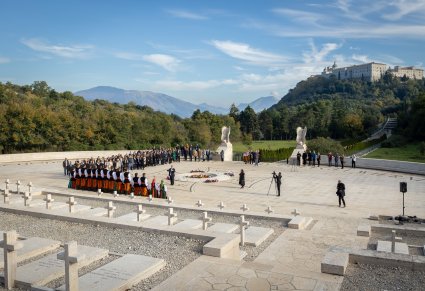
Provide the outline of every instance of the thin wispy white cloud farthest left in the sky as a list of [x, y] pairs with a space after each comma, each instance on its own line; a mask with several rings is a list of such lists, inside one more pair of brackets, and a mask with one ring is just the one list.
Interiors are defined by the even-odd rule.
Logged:
[[32, 50], [64, 58], [87, 58], [93, 50], [92, 45], [50, 45], [36, 38], [22, 39], [21, 42]]

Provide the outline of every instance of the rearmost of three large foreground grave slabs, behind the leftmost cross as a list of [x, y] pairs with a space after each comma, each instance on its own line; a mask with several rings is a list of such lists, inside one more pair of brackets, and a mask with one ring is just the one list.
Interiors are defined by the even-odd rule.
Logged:
[[[3, 233], [1, 233], [1, 236], [3, 236]], [[60, 241], [41, 237], [31, 237], [25, 240], [20, 240], [19, 242], [22, 243], [23, 247], [17, 251], [18, 263], [60, 247]], [[3, 249], [0, 249], [0, 269], [3, 269], [4, 267], [3, 260]]]

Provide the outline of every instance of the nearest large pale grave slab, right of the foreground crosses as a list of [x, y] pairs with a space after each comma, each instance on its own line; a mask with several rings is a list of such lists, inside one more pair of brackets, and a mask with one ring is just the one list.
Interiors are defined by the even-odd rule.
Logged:
[[[128, 290], [165, 266], [163, 259], [127, 254], [79, 278], [80, 290]], [[65, 286], [59, 287], [65, 290]]]

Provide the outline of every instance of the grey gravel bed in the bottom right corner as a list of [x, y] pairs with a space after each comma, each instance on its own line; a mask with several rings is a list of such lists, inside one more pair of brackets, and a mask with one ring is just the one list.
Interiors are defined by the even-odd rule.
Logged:
[[425, 271], [412, 271], [399, 267], [380, 267], [350, 264], [344, 275], [341, 291], [402, 290], [423, 291]]

